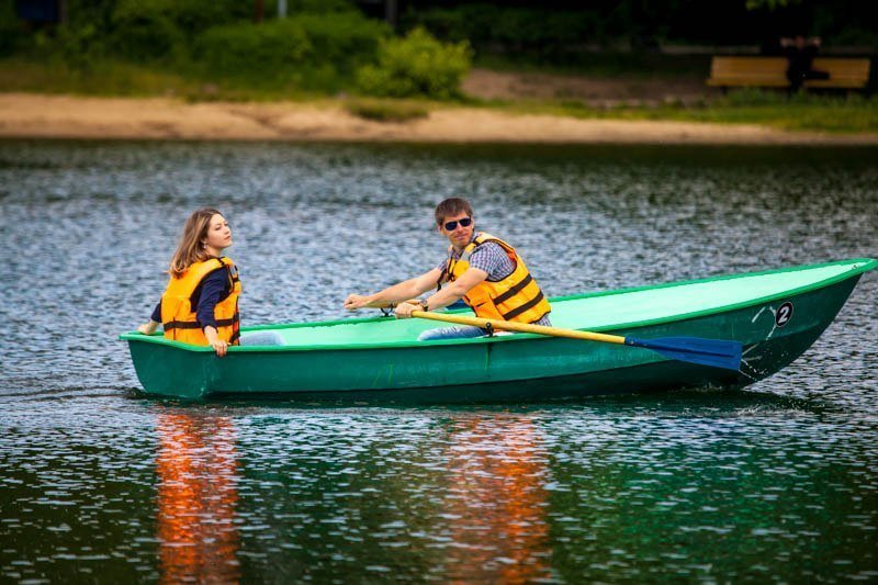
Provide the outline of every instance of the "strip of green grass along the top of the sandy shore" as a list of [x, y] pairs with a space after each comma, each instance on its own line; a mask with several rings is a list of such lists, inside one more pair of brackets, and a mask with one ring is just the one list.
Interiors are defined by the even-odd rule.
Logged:
[[[665, 74], [667, 79], [673, 75]], [[254, 86], [221, 78], [184, 76], [123, 61], [102, 60], [74, 69], [64, 63], [35, 63], [23, 58], [0, 60], [0, 90], [81, 95], [178, 97], [189, 101], [324, 101], [338, 93], [305, 92], [291, 82]], [[342, 90], [344, 94], [356, 90]], [[741, 90], [728, 95], [708, 94], [687, 103], [673, 98], [658, 105], [619, 102], [595, 106], [576, 100], [475, 100], [461, 97], [440, 104], [428, 100], [389, 98], [345, 99], [348, 111], [368, 120], [404, 122], [426, 116], [430, 110], [468, 105], [514, 114], [551, 114], [577, 119], [673, 120], [729, 124], [762, 124], [792, 131], [878, 133], [878, 100], [859, 94], [833, 95]]]

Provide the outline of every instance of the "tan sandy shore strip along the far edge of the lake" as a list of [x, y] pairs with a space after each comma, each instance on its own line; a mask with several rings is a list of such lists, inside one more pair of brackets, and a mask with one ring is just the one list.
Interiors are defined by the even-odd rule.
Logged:
[[785, 132], [752, 124], [579, 120], [442, 109], [404, 123], [339, 105], [187, 103], [175, 99], [0, 93], [0, 137], [417, 143], [878, 145], [878, 135]]

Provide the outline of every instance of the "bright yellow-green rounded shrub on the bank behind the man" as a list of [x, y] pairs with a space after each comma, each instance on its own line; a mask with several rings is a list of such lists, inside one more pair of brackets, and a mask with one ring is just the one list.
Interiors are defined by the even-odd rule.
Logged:
[[357, 83], [373, 95], [447, 100], [460, 95], [471, 60], [469, 43], [443, 44], [418, 27], [405, 38], [382, 40], [378, 66], [362, 67]]

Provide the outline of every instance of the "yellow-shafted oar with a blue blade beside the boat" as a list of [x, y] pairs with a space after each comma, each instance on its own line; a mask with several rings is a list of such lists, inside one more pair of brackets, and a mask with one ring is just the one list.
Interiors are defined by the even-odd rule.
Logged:
[[424, 311], [413, 311], [412, 316], [423, 319], [457, 323], [459, 325], [474, 325], [476, 327], [482, 327], [483, 329], [494, 328], [504, 329], [507, 331], [549, 335], [552, 337], [569, 337], [571, 339], [587, 339], [588, 341], [643, 347], [646, 349], [652, 349], [653, 351], [657, 351], [662, 356], [666, 356], [675, 360], [700, 363], [701, 365], [712, 365], [714, 368], [725, 368], [727, 370], [738, 371], [741, 369], [741, 344], [738, 341], [703, 339], [701, 337], [660, 337], [656, 339], [637, 339], [634, 337], [621, 337], [618, 335], [579, 331], [576, 329], [562, 329], [560, 327], [547, 327], [544, 325], [531, 325], [529, 323], [517, 323], [514, 320], [485, 319], [481, 317], [468, 317], [465, 315], [444, 315], [440, 313], [427, 313]]

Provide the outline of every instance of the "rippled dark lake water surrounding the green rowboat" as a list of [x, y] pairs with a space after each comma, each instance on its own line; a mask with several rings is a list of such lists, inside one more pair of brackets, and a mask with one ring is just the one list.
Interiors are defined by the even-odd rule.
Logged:
[[437, 263], [462, 195], [549, 295], [878, 255], [868, 148], [0, 142], [0, 581], [878, 580], [878, 278], [744, 391], [560, 404], [137, 394], [185, 216], [246, 324]]

